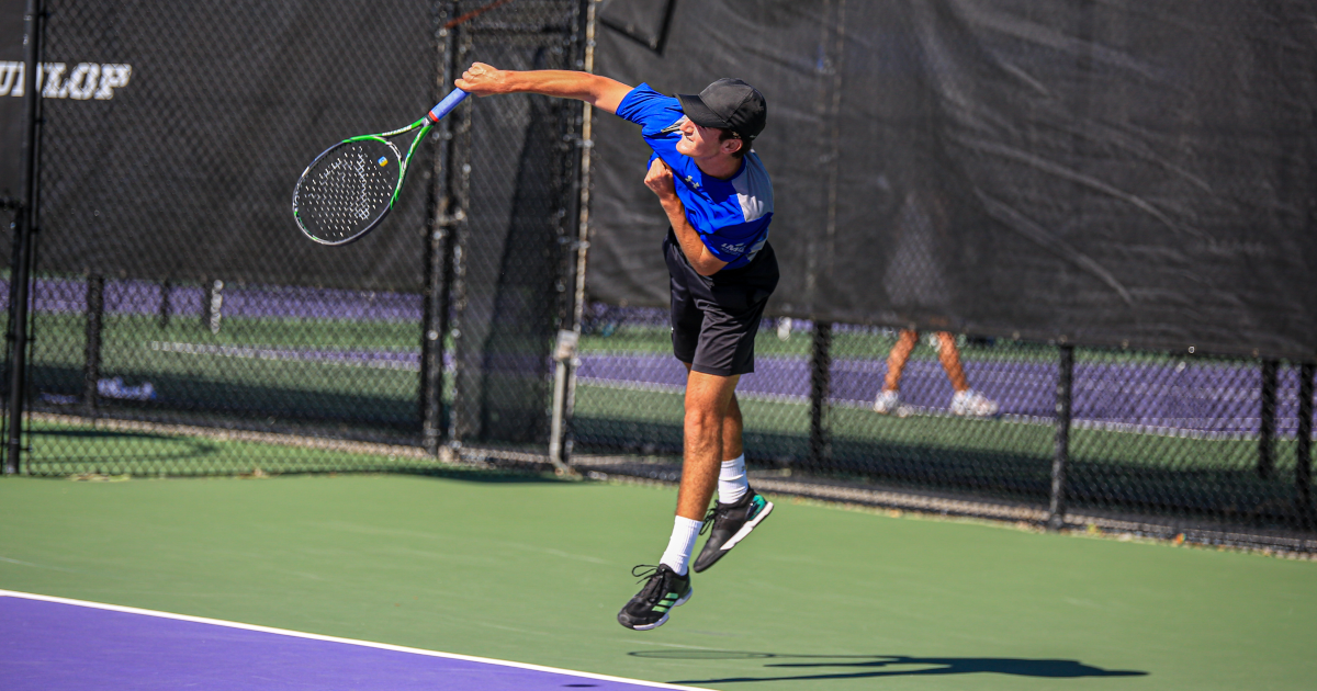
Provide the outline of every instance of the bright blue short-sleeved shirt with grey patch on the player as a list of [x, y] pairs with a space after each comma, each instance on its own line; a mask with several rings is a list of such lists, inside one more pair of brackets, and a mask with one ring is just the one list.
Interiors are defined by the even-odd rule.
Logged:
[[681, 101], [649, 84], [631, 90], [618, 105], [618, 115], [640, 125], [640, 134], [653, 149], [649, 163], [662, 158], [672, 168], [677, 197], [709, 253], [727, 262], [723, 269], [748, 265], [768, 242], [773, 218], [773, 183], [759, 155], [745, 154], [740, 172], [730, 180], [705, 175], [694, 161], [677, 153], [677, 126], [686, 118]]

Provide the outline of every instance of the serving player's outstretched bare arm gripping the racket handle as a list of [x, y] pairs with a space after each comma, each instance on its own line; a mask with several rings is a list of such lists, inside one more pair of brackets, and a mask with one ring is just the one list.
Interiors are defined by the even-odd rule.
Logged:
[[453, 86], [477, 96], [493, 93], [543, 93], [586, 101], [610, 113], [618, 112], [631, 87], [607, 76], [568, 70], [499, 70], [474, 62]]

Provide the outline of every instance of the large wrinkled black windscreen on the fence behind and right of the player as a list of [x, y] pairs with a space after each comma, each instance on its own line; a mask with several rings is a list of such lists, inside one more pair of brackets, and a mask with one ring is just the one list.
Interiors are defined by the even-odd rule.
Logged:
[[[611, 0], [598, 68], [764, 92], [770, 313], [1310, 361], [1314, 12]], [[595, 138], [591, 291], [662, 304], [645, 146], [620, 118]]]

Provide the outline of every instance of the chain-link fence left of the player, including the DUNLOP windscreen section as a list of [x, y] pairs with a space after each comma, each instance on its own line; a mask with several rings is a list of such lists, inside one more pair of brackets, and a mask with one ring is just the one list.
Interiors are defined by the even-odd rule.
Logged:
[[[461, 64], [578, 67], [579, 7], [46, 1], [24, 471], [396, 469], [432, 462], [404, 448], [540, 445], [579, 104], [471, 99], [348, 247], [298, 233], [288, 197], [319, 151], [415, 120]], [[274, 445], [142, 457], [144, 436], [199, 429]], [[386, 457], [282, 450], [336, 449], [317, 438]]]

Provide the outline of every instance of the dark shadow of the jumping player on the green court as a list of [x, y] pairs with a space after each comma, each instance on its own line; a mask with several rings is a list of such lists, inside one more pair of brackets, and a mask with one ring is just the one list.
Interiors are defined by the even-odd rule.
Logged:
[[[946, 674], [1010, 674], [1048, 679], [1084, 677], [1146, 677], [1137, 670], [1104, 670], [1073, 659], [1023, 659], [979, 657], [906, 657], [906, 655], [789, 655], [740, 650], [637, 650], [632, 657], [651, 659], [802, 659], [809, 662], [770, 662], [765, 669], [772, 677], [726, 677], [716, 679], [681, 679], [674, 684], [718, 684], [732, 682], [792, 682], [815, 679], [872, 679], [877, 677], [931, 677]], [[817, 661], [817, 662], [815, 662]], [[893, 669], [918, 666], [921, 669]], [[799, 674], [785, 673], [799, 670]], [[817, 673], [815, 673], [817, 670]]]

